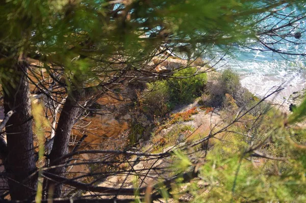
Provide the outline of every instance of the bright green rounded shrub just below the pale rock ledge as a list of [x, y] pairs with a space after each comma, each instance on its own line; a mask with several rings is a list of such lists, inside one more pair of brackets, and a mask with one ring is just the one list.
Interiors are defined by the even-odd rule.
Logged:
[[173, 75], [181, 78], [171, 78], [165, 81], [171, 103], [190, 103], [201, 95], [203, 87], [207, 83], [207, 75], [203, 73], [193, 76], [196, 71], [195, 67], [186, 68]]

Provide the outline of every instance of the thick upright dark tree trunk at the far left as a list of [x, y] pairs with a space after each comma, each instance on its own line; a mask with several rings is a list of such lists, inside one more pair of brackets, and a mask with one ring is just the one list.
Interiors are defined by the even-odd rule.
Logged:
[[18, 60], [2, 77], [5, 113], [15, 111], [6, 124], [5, 169], [12, 200], [34, 199], [37, 189], [37, 176], [29, 178], [36, 165], [27, 71], [28, 64]]

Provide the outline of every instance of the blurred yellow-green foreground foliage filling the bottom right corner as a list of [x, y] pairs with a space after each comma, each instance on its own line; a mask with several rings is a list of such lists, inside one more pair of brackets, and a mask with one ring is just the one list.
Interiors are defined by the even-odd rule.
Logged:
[[[302, 117], [294, 118], [298, 122]], [[275, 109], [261, 118], [245, 114], [208, 151], [199, 166], [200, 180], [177, 181], [176, 187], [184, 187], [193, 196], [191, 202], [306, 201], [306, 131], [292, 124], [288, 126], [287, 115]], [[250, 157], [250, 149], [263, 157]]]

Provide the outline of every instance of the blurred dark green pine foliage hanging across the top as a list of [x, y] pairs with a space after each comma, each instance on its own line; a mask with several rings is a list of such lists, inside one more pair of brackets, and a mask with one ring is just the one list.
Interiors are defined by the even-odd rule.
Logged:
[[[116, 60], [114, 56], [124, 56], [124, 63], [135, 68], [147, 63], [163, 43], [183, 40], [192, 52], [199, 44], [256, 39], [251, 17], [266, 12], [264, 5], [273, 8], [281, 4], [254, 3], [257, 1], [6, 1], [0, 8], [0, 23], [6, 27], [0, 43], [2, 54], [10, 57], [1, 63], [10, 67], [11, 57], [18, 58], [23, 52], [39, 56], [46, 69], [53, 68], [49, 64], [65, 67], [67, 83], [77, 85], [89, 78], [92, 85], [107, 82], [99, 77], [117, 70], [109, 63], [109, 59]], [[121, 15], [122, 11], [126, 15]], [[148, 35], [150, 40], [144, 40]], [[171, 36], [171, 42], [165, 36]], [[76, 62], [76, 57], [80, 61]]]

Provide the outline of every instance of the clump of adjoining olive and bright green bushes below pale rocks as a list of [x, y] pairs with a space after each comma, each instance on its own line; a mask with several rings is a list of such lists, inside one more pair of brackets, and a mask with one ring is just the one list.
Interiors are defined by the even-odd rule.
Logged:
[[177, 104], [188, 104], [199, 97], [207, 83], [205, 73], [194, 75], [195, 67], [183, 69], [164, 81], [147, 83], [141, 102], [144, 112], [161, 117]]

